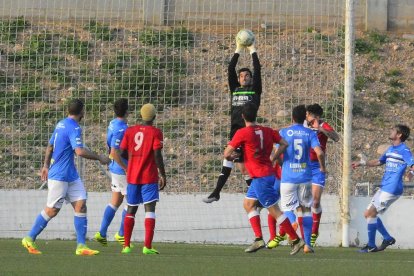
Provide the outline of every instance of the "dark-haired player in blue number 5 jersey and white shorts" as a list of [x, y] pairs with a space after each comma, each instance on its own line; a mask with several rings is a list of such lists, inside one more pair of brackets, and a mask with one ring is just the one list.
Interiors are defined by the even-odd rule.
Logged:
[[306, 107], [299, 105], [293, 108], [294, 124], [279, 131], [289, 147], [283, 154], [282, 180], [280, 185], [282, 210], [296, 210], [302, 237], [305, 240], [305, 253], [312, 253], [310, 244], [312, 231], [312, 168], [310, 166], [310, 149], [313, 148], [318, 157], [322, 173], [325, 173], [325, 155], [318, 137], [311, 129], [303, 126], [306, 119]]

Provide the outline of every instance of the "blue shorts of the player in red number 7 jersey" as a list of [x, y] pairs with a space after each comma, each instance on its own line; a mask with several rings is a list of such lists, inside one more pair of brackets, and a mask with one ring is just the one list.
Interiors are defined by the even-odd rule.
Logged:
[[280, 181], [274, 175], [253, 178], [246, 198], [258, 200], [263, 207], [269, 208], [280, 199]]

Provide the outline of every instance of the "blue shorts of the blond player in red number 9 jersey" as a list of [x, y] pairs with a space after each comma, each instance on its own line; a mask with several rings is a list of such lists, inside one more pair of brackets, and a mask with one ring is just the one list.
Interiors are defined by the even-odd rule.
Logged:
[[158, 183], [142, 185], [128, 184], [127, 186], [127, 202], [130, 206], [159, 201], [159, 198]]

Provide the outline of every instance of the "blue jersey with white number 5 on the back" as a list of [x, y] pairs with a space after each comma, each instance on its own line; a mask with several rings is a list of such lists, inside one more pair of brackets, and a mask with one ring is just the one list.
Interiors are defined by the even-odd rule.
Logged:
[[279, 130], [289, 146], [283, 154], [282, 183], [301, 184], [311, 182], [310, 150], [320, 147], [318, 137], [310, 128], [301, 124]]

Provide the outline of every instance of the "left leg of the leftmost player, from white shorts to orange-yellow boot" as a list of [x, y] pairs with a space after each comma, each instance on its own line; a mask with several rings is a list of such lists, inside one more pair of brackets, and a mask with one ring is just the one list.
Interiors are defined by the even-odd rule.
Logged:
[[47, 202], [44, 210], [36, 217], [28, 235], [22, 239], [22, 245], [31, 254], [41, 254], [35, 240], [46, 228], [49, 221], [54, 218], [62, 208], [65, 201], [68, 183], [63, 181], [48, 180]]

